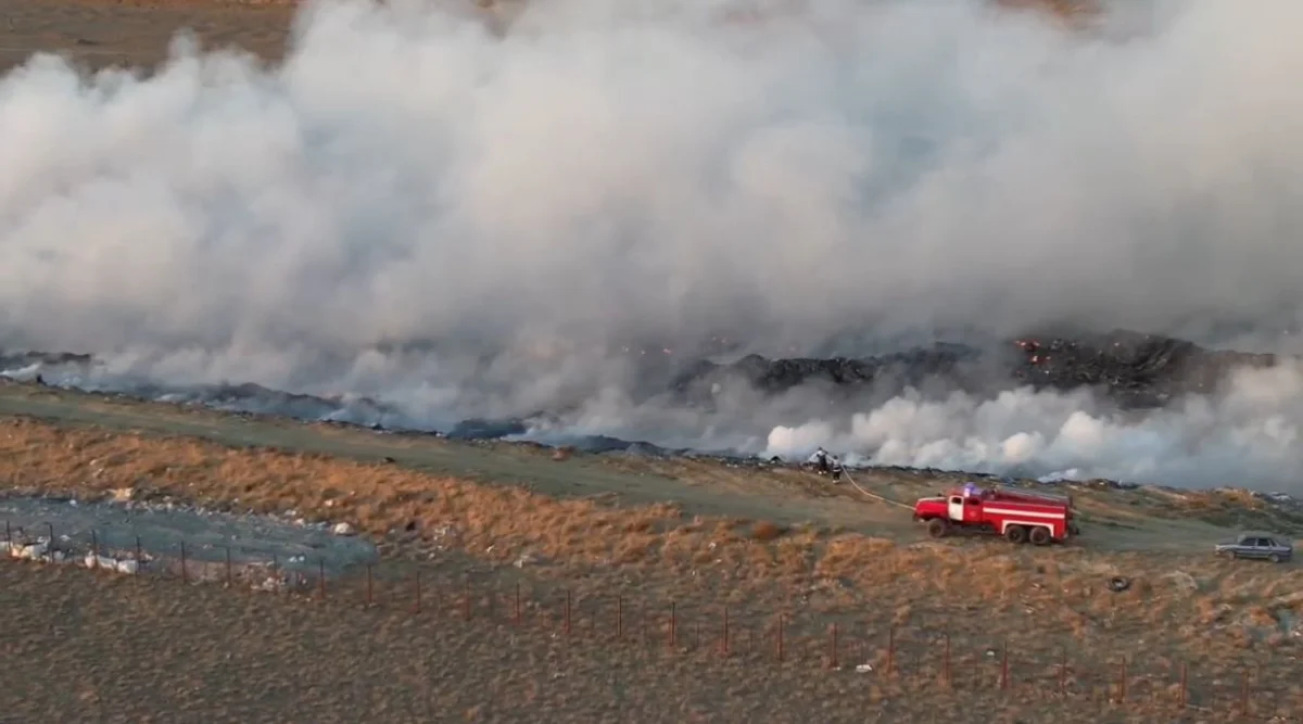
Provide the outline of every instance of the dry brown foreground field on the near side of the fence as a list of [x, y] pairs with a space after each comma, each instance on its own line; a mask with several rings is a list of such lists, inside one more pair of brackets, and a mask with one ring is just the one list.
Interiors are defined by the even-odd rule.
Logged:
[[[822, 669], [487, 619], [0, 565], [13, 721], [1218, 721], [1175, 688], [1067, 697], [990, 676]], [[971, 664], [968, 664], [971, 667]], [[988, 668], [988, 675], [992, 667]], [[969, 672], [956, 664], [956, 672]], [[1265, 714], [1265, 710], [1257, 710]], [[1283, 720], [1283, 719], [1280, 719]]]

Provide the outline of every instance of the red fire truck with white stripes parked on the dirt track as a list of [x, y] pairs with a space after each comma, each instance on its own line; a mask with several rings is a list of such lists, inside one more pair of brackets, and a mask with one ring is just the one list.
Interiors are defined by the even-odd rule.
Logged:
[[928, 523], [928, 534], [943, 538], [955, 530], [1003, 535], [1010, 543], [1048, 546], [1078, 535], [1072, 497], [1010, 488], [966, 486], [913, 504], [913, 520]]

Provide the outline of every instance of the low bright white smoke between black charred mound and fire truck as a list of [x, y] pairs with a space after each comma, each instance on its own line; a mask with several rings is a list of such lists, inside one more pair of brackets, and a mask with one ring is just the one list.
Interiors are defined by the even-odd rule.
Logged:
[[840, 426], [777, 427], [766, 454], [795, 457], [822, 445], [878, 465], [1296, 491], [1300, 427], [1303, 367], [1287, 363], [1242, 370], [1225, 395], [1130, 417], [1098, 409], [1085, 393], [904, 395]]

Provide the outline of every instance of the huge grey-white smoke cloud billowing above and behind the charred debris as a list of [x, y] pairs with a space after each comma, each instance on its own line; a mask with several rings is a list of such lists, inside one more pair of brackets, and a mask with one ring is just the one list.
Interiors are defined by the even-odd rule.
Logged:
[[[5, 76], [0, 346], [430, 423], [579, 405], [586, 431], [758, 452], [825, 436], [757, 435], [804, 423], [800, 396], [649, 409], [611, 350], [1042, 322], [1200, 339], [1303, 310], [1295, 1], [1131, 3], [1085, 33], [984, 0], [550, 0], [504, 33], [438, 5], [309, 7], [275, 68], [179, 46], [150, 76]], [[1303, 473], [1272, 441], [1303, 396], [1272, 374], [1278, 397], [1253, 378], [1139, 426], [1075, 396], [900, 398], [844, 443], [1274, 483]]]

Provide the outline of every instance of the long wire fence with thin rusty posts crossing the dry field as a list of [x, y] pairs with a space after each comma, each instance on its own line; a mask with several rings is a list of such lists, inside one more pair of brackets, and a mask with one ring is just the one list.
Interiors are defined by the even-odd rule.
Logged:
[[[872, 675], [902, 684], [950, 690], [999, 690], [1020, 697], [1126, 707], [1160, 706], [1173, 712], [1239, 720], [1303, 721], [1303, 690], [1287, 684], [1296, 658], [1260, 652], [1248, 664], [1195, 665], [1153, 656], [1128, 659], [1079, 646], [1029, 651], [1007, 639], [973, 643], [945, 626], [857, 622], [853, 617], [752, 607], [685, 606], [625, 595], [620, 590], [579, 595], [538, 582], [476, 579], [464, 573], [377, 561], [354, 568], [240, 547], [188, 544], [175, 552], [57, 538], [53, 525], [35, 534], [4, 523], [0, 555], [14, 561], [77, 565], [130, 576], [215, 583], [249, 591], [383, 608], [470, 625], [494, 622], [563, 639], [567, 645], [614, 643], [698, 659], [809, 667]], [[77, 538], [87, 538], [83, 534]], [[397, 565], [390, 565], [397, 563]], [[1283, 660], [1282, 660], [1283, 659]]]

